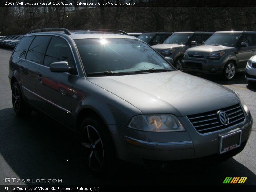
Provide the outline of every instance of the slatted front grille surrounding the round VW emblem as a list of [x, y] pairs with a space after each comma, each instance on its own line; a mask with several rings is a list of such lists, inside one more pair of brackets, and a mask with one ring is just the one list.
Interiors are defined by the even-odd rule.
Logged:
[[[217, 115], [219, 110], [227, 113], [229, 118], [229, 124], [227, 126], [220, 123]], [[188, 116], [188, 119], [195, 127], [196, 131], [201, 134], [225, 129], [227, 127], [242, 123], [245, 119], [244, 112], [239, 104], [219, 110], [190, 115]]]

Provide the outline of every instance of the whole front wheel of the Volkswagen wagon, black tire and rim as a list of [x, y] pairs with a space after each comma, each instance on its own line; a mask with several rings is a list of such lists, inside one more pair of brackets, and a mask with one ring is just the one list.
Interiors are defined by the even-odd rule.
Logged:
[[98, 117], [86, 117], [79, 132], [82, 154], [89, 171], [95, 176], [115, 173], [117, 167], [115, 148], [108, 128], [102, 120]]

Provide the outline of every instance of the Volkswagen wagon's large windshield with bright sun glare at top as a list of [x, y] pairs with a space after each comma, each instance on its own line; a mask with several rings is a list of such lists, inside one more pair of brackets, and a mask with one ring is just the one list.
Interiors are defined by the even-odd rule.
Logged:
[[137, 39], [77, 39], [75, 42], [87, 75], [174, 70], [156, 51]]

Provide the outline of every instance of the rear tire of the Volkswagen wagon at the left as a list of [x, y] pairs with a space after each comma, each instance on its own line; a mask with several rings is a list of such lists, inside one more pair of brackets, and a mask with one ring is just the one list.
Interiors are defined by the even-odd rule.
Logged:
[[32, 112], [30, 106], [23, 99], [17, 81], [12, 85], [12, 105], [17, 116], [28, 116]]

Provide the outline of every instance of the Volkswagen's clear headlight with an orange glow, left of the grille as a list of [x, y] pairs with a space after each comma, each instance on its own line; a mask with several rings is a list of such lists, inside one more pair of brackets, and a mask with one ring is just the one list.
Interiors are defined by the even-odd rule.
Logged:
[[134, 116], [128, 124], [128, 127], [152, 132], [185, 131], [185, 128], [174, 115]]

